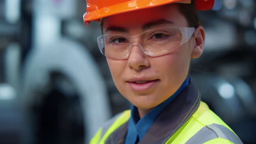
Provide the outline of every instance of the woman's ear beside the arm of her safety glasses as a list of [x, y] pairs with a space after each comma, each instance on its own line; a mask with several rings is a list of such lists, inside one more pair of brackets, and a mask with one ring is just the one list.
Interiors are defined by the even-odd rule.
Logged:
[[195, 43], [193, 43], [191, 57], [199, 58], [202, 55], [203, 49], [205, 48], [205, 29], [202, 26], [198, 26], [195, 29], [192, 38], [194, 39]]

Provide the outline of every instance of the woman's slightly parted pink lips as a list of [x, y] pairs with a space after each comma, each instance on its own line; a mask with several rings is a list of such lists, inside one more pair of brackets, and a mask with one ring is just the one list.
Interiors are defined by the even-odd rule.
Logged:
[[143, 92], [147, 91], [149, 88], [153, 87], [156, 83], [158, 83], [160, 80], [137, 80], [137, 81], [131, 81], [129, 83], [130, 87], [137, 92]]

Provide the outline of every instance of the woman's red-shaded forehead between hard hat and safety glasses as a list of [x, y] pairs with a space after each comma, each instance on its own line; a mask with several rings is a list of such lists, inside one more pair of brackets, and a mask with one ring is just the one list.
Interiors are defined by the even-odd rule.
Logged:
[[103, 20], [103, 30], [108, 27], [142, 28], [154, 21], [166, 21], [166, 23], [169, 21], [170, 25], [187, 26], [185, 17], [179, 13], [178, 4], [168, 4], [106, 17]]

